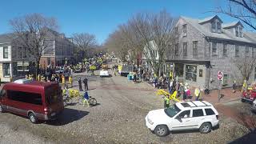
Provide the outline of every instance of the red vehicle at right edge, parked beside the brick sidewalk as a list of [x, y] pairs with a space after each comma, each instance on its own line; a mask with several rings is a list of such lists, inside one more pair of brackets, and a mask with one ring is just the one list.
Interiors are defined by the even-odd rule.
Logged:
[[247, 88], [247, 90], [244, 88], [242, 89], [242, 102], [250, 102], [253, 103], [256, 99], [256, 84], [251, 84], [250, 87]]

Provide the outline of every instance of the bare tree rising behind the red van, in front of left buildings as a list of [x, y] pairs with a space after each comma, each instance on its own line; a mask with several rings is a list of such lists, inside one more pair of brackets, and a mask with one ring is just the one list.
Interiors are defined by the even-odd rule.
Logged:
[[50, 34], [58, 30], [56, 19], [42, 14], [27, 14], [10, 20], [10, 26], [14, 31], [14, 43], [25, 47], [34, 56], [37, 75], [43, 51], [52, 46]]

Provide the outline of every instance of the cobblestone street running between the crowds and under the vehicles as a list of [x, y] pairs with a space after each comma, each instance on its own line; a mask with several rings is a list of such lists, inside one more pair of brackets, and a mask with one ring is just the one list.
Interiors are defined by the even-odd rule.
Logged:
[[[124, 77], [100, 78], [98, 71], [95, 74], [87, 77], [89, 94], [98, 106], [86, 108], [74, 102], [58, 121], [39, 124], [14, 114], [0, 114], [0, 143], [225, 143], [249, 132], [221, 114], [220, 127], [210, 134], [186, 131], [159, 138], [146, 129], [144, 120], [149, 110], [162, 108], [163, 100], [155, 90], [144, 82], [134, 84]], [[86, 75], [74, 74], [74, 79]], [[77, 85], [74, 82], [74, 89]]]

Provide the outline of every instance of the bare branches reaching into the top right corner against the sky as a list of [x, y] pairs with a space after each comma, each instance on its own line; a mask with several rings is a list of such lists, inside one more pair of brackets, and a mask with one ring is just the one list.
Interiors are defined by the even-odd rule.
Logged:
[[255, 0], [226, 0], [226, 7], [218, 7], [217, 12], [238, 18], [246, 25], [256, 30], [256, 1]]

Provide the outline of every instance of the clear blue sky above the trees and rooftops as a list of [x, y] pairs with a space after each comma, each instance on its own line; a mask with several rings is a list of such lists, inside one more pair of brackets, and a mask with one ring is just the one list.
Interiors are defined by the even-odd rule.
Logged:
[[[0, 34], [11, 32], [9, 20], [25, 14], [40, 13], [58, 20], [60, 32], [70, 37], [74, 33], [95, 34], [99, 43], [105, 41], [116, 27], [138, 12], [166, 10], [178, 17], [205, 18], [206, 13], [225, 0], [2, 0]], [[222, 21], [234, 18], [218, 14]]]

